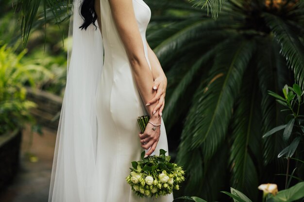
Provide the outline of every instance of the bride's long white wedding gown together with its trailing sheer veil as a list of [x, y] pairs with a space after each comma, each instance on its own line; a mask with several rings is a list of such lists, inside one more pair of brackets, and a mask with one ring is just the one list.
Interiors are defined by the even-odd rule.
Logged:
[[[76, 3], [79, 2], [76, 0]], [[151, 10], [143, 0], [133, 0], [133, 6], [145, 56], [151, 68], [146, 45], [146, 29], [151, 18]], [[97, 25], [97, 21], [95, 24]], [[74, 25], [73, 29], [75, 27]], [[79, 68], [79, 72], [75, 69], [68, 70], [64, 109], [61, 111], [56, 139], [49, 202], [172, 202], [173, 194], [157, 199], [139, 198], [125, 181], [130, 173], [129, 168], [132, 167], [131, 162], [140, 160], [143, 152], [138, 138], [140, 128], [136, 118], [148, 113], [136, 88], [132, 67], [119, 37], [108, 0], [101, 0], [101, 27], [104, 47], [102, 70], [90, 71], [91, 66], [95, 65], [93, 62], [83, 63], [82, 65], [86, 65], [83, 67], [85, 70]], [[99, 29], [91, 28], [83, 34], [92, 34], [95, 45], [85, 47], [84, 42], [81, 47], [73, 47], [72, 58], [73, 54], [76, 57], [75, 54], [81, 55], [79, 52], [82, 51], [87, 57], [94, 51], [101, 52], [98, 47], [102, 46]], [[92, 52], [87, 53], [89, 48]], [[102, 55], [100, 62], [101, 58]], [[78, 79], [73, 74], [77, 74]], [[91, 82], [90, 77], [92, 80], [97, 78], [95, 94], [87, 94], [90, 89], [85, 85]], [[87, 85], [94, 86], [95, 83]], [[74, 90], [67, 90], [68, 87], [73, 87]], [[77, 93], [82, 93], [80, 100], [73, 99]], [[76, 105], [75, 102], [79, 104]], [[92, 107], [88, 108], [90, 105]], [[81, 107], [79, 109], [73, 106]], [[86, 116], [87, 109], [95, 109], [96, 117]], [[156, 155], [159, 155], [159, 149], [168, 151], [163, 120]]]

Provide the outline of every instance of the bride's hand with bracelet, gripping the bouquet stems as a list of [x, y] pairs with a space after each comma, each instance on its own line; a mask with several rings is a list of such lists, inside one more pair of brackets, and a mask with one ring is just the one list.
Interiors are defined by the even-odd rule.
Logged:
[[[153, 124], [159, 125], [160, 123]], [[144, 156], [145, 158], [154, 152], [160, 137], [160, 126], [156, 126], [155, 130], [152, 129], [153, 127], [154, 126], [152, 124], [148, 123], [144, 133], [139, 132], [138, 134], [140, 138], [141, 147], [146, 150], [151, 147], [150, 150], [146, 152]]]

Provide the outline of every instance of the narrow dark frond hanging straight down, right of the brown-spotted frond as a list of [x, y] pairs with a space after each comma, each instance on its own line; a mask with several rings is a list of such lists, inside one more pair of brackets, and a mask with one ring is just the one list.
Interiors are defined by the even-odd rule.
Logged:
[[[232, 121], [233, 143], [230, 149], [231, 186], [257, 201], [261, 160], [261, 113], [255, 68], [247, 69], [236, 101]], [[257, 162], [253, 162], [253, 159]]]

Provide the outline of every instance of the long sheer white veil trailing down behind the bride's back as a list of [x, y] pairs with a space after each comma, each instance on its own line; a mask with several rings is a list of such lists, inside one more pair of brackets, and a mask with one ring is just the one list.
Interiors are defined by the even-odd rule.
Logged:
[[[96, 89], [103, 67], [103, 42], [97, 27], [79, 29], [82, 0], [73, 1], [67, 83], [55, 143], [48, 202], [93, 202], [97, 147]], [[97, 21], [96, 21], [97, 22]], [[96, 23], [98, 26], [98, 23]], [[69, 58], [68, 56], [68, 58]], [[68, 199], [68, 201], [66, 201]], [[94, 202], [95, 202], [94, 201]]]

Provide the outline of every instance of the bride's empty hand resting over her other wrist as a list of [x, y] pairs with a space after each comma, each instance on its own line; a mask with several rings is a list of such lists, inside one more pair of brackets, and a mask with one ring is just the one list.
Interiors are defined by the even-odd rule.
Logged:
[[155, 96], [146, 103], [146, 106], [151, 105], [152, 103], [158, 101], [158, 104], [154, 107], [152, 110], [153, 112], [156, 112], [158, 109], [158, 114], [162, 116], [162, 111], [165, 107], [165, 96], [166, 96], [166, 89], [167, 89], [167, 78], [165, 75], [161, 75], [154, 80], [154, 84], [152, 87], [154, 90], [156, 90]]

